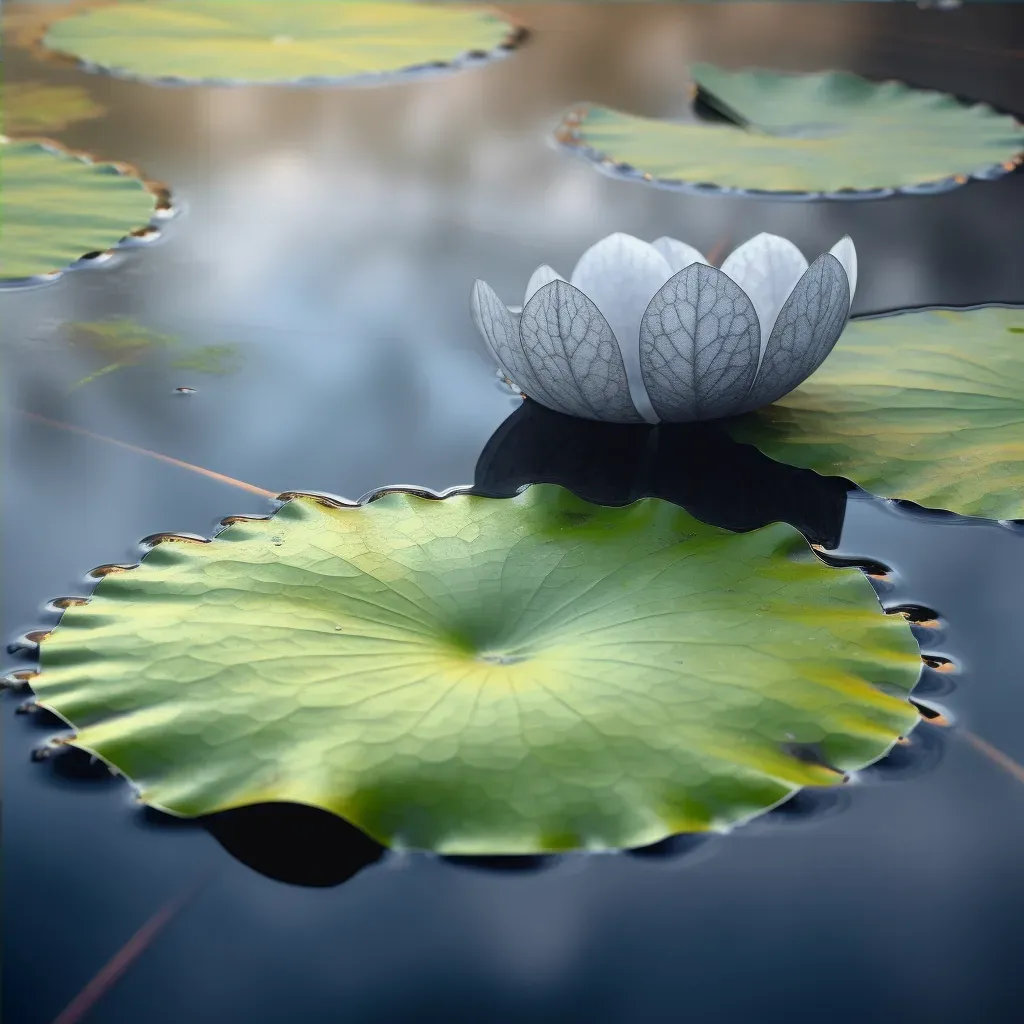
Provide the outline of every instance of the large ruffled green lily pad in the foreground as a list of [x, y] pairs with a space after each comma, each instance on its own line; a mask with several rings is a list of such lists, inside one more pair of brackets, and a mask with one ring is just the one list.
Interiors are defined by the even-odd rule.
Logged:
[[446, 853], [721, 827], [884, 755], [921, 662], [791, 527], [646, 499], [294, 497], [104, 577], [33, 681], [183, 815], [294, 801]]

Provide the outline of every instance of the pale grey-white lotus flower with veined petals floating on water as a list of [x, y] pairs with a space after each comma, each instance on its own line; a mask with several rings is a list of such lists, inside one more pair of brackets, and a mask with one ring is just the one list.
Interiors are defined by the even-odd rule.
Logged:
[[522, 310], [485, 282], [473, 322], [502, 373], [548, 409], [614, 423], [713, 420], [770, 404], [839, 340], [857, 287], [844, 238], [810, 266], [758, 234], [721, 270], [684, 242], [609, 234], [569, 281], [534, 271]]

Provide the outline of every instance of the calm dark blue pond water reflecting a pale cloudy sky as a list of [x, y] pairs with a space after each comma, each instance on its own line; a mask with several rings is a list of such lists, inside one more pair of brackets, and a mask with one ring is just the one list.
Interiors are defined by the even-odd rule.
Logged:
[[[855, 312], [1024, 301], [1024, 175], [884, 202], [696, 198], [545, 140], [582, 99], [680, 113], [692, 57], [842, 67], [1020, 110], [1009, 7], [507, 9], [534, 29], [512, 57], [369, 90], [159, 88], [5, 53], [7, 81], [80, 84], [108, 109], [56, 137], [136, 164], [180, 209], [151, 247], [0, 295], [7, 635], [52, 622], [46, 601], [84, 593], [88, 569], [133, 560], [144, 536], [271, 507], [232, 480], [356, 498], [544, 478], [628, 500], [628, 453], [581, 436], [546, 461], [541, 414], [503, 426], [519, 401], [468, 315], [475, 278], [514, 301], [536, 265], [567, 270], [613, 230], [703, 251], [769, 230], [812, 255], [849, 232]], [[70, 390], [99, 364], [61, 325], [113, 316], [237, 346], [239, 369], [155, 357]], [[698, 445], [711, 454], [694, 460]], [[206, 827], [143, 812], [86, 759], [34, 762], [55, 721], [15, 715], [31, 694], [8, 692], [5, 1020], [53, 1021], [162, 909], [88, 1021], [1024, 1019], [1024, 777], [992, 750], [1024, 761], [1024, 534], [751, 458], [664, 431], [655, 490], [727, 525], [786, 517], [838, 540], [836, 557], [888, 566], [884, 604], [916, 609], [937, 659], [920, 698], [951, 728], [925, 723], [831, 802], [728, 836], [468, 863], [381, 855], [312, 812]]]

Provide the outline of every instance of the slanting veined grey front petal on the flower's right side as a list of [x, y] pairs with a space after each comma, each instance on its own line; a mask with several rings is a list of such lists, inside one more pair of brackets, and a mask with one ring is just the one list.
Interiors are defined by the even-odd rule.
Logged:
[[779, 310], [743, 410], [771, 404], [810, 377], [839, 341], [849, 314], [846, 272], [831, 253], [822, 253]]

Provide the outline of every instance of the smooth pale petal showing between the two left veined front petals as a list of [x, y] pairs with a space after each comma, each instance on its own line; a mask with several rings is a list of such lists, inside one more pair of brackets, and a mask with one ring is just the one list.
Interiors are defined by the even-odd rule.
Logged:
[[572, 285], [601, 310], [618, 339], [630, 393], [643, 418], [656, 422], [640, 376], [640, 319], [672, 276], [669, 261], [632, 234], [609, 234], [591, 246], [572, 271]]

